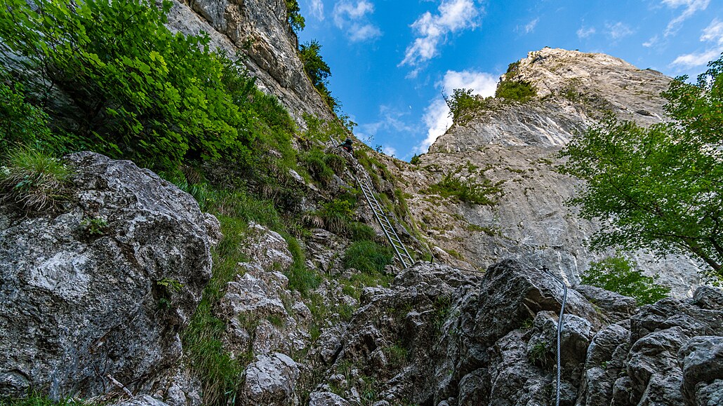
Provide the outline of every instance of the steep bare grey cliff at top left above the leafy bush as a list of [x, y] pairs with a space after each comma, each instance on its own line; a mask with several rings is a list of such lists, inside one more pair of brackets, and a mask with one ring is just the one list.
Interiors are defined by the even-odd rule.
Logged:
[[303, 125], [304, 113], [332, 118], [297, 56], [285, 1], [174, 0], [167, 25], [186, 34], [203, 31], [212, 47], [247, 56], [243, 61], [256, 85], [278, 97], [298, 124]]

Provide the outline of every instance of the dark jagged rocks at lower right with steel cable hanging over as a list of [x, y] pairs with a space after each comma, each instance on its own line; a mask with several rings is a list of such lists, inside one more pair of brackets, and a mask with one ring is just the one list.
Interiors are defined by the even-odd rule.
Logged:
[[[362, 301], [314, 404], [554, 404], [562, 288], [549, 274], [512, 260], [484, 276], [418, 264]], [[621, 319], [569, 289], [560, 404], [714, 404], [723, 307], [713, 307], [665, 299]]]

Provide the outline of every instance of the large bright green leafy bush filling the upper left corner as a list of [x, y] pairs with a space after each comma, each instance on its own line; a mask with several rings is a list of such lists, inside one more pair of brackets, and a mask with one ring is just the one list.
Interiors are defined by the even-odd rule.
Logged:
[[[238, 91], [239, 66], [208, 51], [207, 35], [171, 33], [171, 1], [7, 0], [0, 39], [22, 56], [14, 74], [39, 103], [58, 91], [56, 134], [69, 150], [90, 149], [154, 168], [184, 159], [248, 160], [259, 136], [256, 107]], [[233, 75], [233, 78], [229, 78]], [[245, 76], [244, 76], [245, 78]], [[250, 83], [249, 83], [250, 82]], [[235, 86], [235, 87], [232, 87]], [[261, 97], [254, 90], [254, 100]], [[257, 103], [258, 104], [258, 103]], [[242, 108], [239, 108], [239, 106]]]

